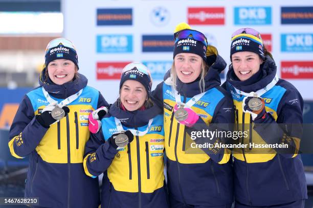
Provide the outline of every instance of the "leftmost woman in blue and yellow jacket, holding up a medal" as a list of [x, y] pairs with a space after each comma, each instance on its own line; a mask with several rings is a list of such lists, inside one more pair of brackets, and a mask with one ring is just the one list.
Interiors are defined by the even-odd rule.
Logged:
[[88, 115], [108, 104], [78, 73], [71, 41], [52, 40], [45, 58], [40, 86], [21, 101], [9, 135], [11, 154], [29, 156], [25, 197], [38, 197], [38, 207], [96, 208], [98, 180], [85, 175], [82, 162]]

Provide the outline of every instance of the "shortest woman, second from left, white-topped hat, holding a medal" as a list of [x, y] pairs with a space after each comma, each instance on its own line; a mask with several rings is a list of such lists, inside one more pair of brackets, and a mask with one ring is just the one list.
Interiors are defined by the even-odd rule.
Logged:
[[[163, 115], [149, 99], [151, 84], [143, 64], [126, 65], [120, 98], [101, 120], [100, 132], [86, 143], [85, 173], [97, 177], [104, 172], [102, 207], [168, 207]], [[118, 146], [119, 134], [126, 135], [128, 142]]]

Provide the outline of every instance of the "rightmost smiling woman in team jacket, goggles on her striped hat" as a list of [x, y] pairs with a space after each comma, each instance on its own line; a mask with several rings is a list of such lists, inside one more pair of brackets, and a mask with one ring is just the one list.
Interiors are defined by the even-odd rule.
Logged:
[[278, 79], [254, 29], [234, 32], [231, 61], [223, 86], [232, 94], [238, 129], [249, 132], [238, 140], [247, 146], [233, 150], [235, 207], [304, 207], [306, 181], [297, 154], [303, 99]]

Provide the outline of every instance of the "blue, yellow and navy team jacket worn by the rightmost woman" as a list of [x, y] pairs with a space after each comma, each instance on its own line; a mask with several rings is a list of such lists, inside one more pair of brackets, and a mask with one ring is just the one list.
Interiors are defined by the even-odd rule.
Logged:
[[[250, 131], [249, 137], [241, 138], [248, 144], [287, 143], [289, 150], [277, 154], [279, 149], [234, 149], [235, 200], [252, 206], [283, 204], [307, 198], [306, 181], [299, 148], [300, 125], [302, 123], [303, 99], [298, 90], [285, 80], [277, 84], [261, 97], [265, 101], [266, 114], [260, 121], [252, 122], [251, 114], [242, 112], [243, 95], [237, 94], [234, 87], [246, 93], [256, 92], [269, 84], [276, 75], [274, 60], [266, 57], [260, 71], [247, 81], [240, 82], [232, 66], [223, 84], [231, 92], [236, 114], [236, 123], [242, 131]], [[255, 80], [252, 82], [251, 80]], [[279, 123], [289, 126], [284, 129]], [[269, 124], [269, 125], [264, 125]], [[270, 139], [271, 138], [271, 139]], [[296, 147], [296, 148], [294, 148]]]

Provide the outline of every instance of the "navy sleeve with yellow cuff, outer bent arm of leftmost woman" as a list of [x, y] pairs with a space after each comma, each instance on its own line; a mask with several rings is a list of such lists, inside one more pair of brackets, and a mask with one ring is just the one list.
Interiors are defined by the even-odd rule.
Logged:
[[21, 101], [9, 133], [9, 148], [15, 158], [24, 158], [35, 150], [48, 128], [36, 119], [27, 95]]

